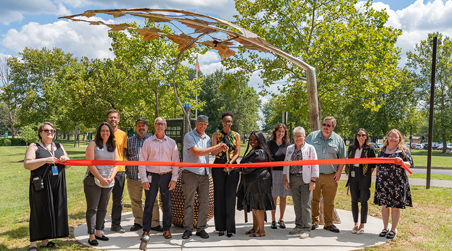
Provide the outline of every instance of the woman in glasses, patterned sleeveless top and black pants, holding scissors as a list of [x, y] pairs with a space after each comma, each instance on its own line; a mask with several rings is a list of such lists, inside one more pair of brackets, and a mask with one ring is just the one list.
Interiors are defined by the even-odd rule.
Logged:
[[[213, 133], [212, 147], [224, 143], [228, 150], [221, 149], [212, 151], [215, 156], [213, 164], [236, 164], [240, 154], [240, 135], [231, 130], [234, 114], [225, 111], [221, 115], [221, 124], [223, 130]], [[234, 168], [212, 168], [213, 180], [213, 218], [215, 220], [215, 230], [218, 236], [224, 235], [231, 237], [236, 233], [236, 192], [239, 184], [240, 175]]]

